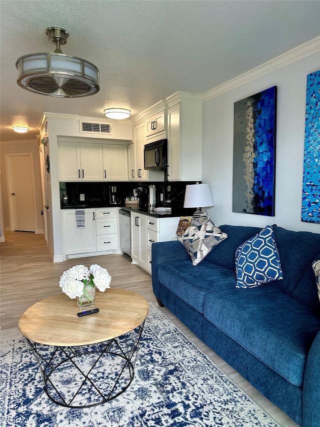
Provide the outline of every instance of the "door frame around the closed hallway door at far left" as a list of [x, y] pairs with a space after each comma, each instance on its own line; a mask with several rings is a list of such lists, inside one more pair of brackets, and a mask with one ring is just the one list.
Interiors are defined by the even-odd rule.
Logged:
[[32, 153], [9, 153], [5, 154], [5, 168], [6, 168], [6, 182], [7, 182], [7, 192], [8, 192], [8, 207], [9, 207], [9, 229], [10, 231], [15, 231], [14, 223], [14, 209], [13, 209], [13, 199], [11, 193], [13, 192], [12, 184], [12, 171], [11, 171], [11, 158], [12, 157], [29, 157], [31, 164], [31, 183], [32, 183], [32, 198], [33, 198], [33, 214], [34, 214], [34, 232], [36, 232], [36, 207], [35, 207], [35, 194], [34, 194], [34, 174], [33, 174], [33, 156]]

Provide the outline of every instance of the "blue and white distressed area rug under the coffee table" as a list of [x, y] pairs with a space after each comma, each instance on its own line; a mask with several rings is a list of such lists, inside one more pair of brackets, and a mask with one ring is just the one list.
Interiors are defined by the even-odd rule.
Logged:
[[0, 360], [2, 427], [279, 427], [153, 304], [133, 381], [107, 403], [70, 409], [49, 400], [17, 328], [1, 331]]

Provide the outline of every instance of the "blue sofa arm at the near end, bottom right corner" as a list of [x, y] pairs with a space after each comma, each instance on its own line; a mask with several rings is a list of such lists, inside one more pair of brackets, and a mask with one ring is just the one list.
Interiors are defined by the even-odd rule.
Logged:
[[305, 366], [302, 396], [302, 426], [320, 425], [320, 331], [317, 333]]

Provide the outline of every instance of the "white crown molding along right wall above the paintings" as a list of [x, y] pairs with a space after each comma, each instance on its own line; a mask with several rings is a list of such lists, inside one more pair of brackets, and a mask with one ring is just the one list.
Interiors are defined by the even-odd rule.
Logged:
[[315, 39], [303, 43], [302, 45], [299, 45], [296, 48], [293, 48], [290, 51], [287, 51], [284, 54], [279, 55], [278, 57], [275, 57], [270, 61], [259, 65], [258, 67], [252, 68], [246, 73], [240, 74], [240, 76], [237, 76], [234, 79], [231, 79], [225, 83], [222, 83], [219, 86], [214, 87], [213, 89], [210, 89], [207, 92], [204, 92], [203, 102], [222, 95], [225, 92], [231, 91], [232, 89], [249, 83], [252, 80], [258, 79], [259, 77], [262, 77], [265, 74], [272, 73], [273, 71], [278, 70], [279, 68], [285, 67], [295, 61], [299, 61], [300, 59], [319, 51], [320, 37], [316, 37]]

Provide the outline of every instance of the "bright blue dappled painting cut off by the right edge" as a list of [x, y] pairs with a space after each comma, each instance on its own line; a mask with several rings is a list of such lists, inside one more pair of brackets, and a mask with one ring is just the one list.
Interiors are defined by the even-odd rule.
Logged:
[[302, 221], [320, 222], [320, 71], [306, 78]]

